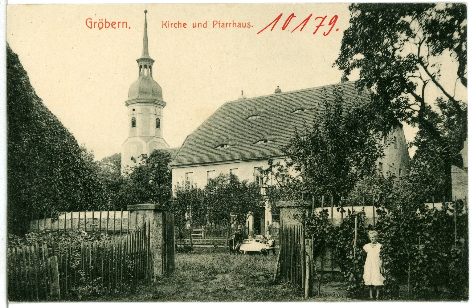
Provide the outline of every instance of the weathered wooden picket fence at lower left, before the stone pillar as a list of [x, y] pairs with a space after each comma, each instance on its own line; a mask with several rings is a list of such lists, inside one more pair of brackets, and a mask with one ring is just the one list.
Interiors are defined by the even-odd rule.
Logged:
[[[10, 247], [9, 301], [48, 301], [80, 294], [84, 285], [123, 290], [151, 281], [150, 222], [123, 238]], [[82, 289], [84, 290], [84, 289]]]

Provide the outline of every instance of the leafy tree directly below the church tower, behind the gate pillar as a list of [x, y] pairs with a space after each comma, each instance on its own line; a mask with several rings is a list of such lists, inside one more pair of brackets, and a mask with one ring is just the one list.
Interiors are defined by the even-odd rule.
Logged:
[[132, 158], [134, 164], [127, 168], [127, 185], [122, 185], [119, 195], [123, 205], [158, 203], [169, 205], [171, 200], [172, 159], [169, 153], [154, 150], [149, 156]]

